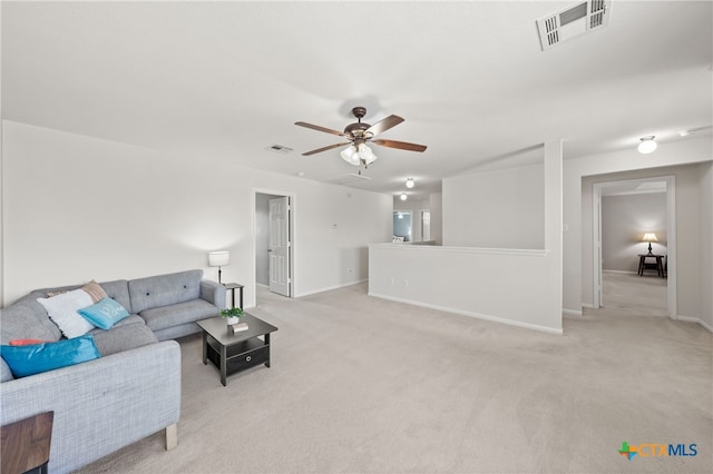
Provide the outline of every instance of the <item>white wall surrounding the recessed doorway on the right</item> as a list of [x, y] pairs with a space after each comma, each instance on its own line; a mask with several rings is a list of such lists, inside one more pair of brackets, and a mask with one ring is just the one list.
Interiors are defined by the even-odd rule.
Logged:
[[[690, 227], [691, 209], [699, 213], [699, 191], [701, 179], [699, 171], [683, 171], [678, 176], [677, 165], [709, 162], [713, 159], [713, 147], [710, 137], [661, 144], [651, 155], [641, 155], [634, 147], [631, 150], [596, 155], [564, 161], [564, 268], [563, 289], [564, 308], [572, 313], [580, 313], [583, 305], [592, 305], [592, 180], [587, 177], [596, 176], [597, 181], [647, 178], [655, 176], [676, 176], [676, 211], [677, 211], [677, 250], [678, 250], [678, 314], [690, 315], [691, 305], [700, 308], [701, 294], [697, 287], [700, 278], [699, 243], [711, 241], [711, 234], [699, 226]], [[673, 168], [672, 168], [673, 167]], [[700, 167], [697, 168], [700, 170]], [[625, 172], [631, 171], [631, 172]], [[606, 176], [598, 176], [604, 175]], [[691, 189], [688, 177], [695, 176], [694, 189]], [[594, 178], [593, 178], [594, 179]], [[583, 181], [586, 181], [583, 184]], [[706, 182], [710, 185], [710, 181]], [[709, 191], [710, 192], [710, 191]], [[691, 207], [692, 206], [692, 207]], [[588, 214], [586, 214], [588, 213]], [[586, 215], [585, 215], [586, 214]], [[695, 218], [697, 221], [697, 217]], [[686, 250], [690, 255], [686, 255]], [[695, 260], [695, 261], [693, 261]], [[713, 267], [713, 261], [700, 261], [701, 265]], [[670, 268], [671, 269], [671, 268]], [[682, 293], [683, 292], [683, 293]], [[681, 307], [681, 305], [684, 305]]]

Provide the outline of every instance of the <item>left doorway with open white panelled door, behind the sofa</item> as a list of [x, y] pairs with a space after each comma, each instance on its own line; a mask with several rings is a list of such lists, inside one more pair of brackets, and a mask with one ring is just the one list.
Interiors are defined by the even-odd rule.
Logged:
[[255, 300], [262, 292], [293, 296], [294, 249], [292, 245], [294, 196], [256, 190], [254, 206]]

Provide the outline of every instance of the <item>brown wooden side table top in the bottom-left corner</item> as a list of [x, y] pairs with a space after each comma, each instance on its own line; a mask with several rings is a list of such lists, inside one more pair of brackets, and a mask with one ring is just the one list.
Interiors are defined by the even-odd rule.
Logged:
[[46, 412], [2, 427], [3, 474], [47, 474], [53, 419], [55, 412]]

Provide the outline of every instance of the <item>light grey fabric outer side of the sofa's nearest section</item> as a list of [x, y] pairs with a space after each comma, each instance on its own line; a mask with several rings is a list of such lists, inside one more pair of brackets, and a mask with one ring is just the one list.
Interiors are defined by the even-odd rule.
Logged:
[[0, 384], [0, 425], [55, 412], [49, 472], [71, 472], [180, 415], [180, 346], [149, 344]]

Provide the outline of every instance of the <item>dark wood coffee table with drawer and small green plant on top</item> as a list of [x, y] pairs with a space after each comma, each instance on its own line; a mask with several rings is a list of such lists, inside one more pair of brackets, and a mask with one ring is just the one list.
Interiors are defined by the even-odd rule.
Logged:
[[260, 364], [270, 367], [270, 334], [277, 328], [247, 313], [243, 313], [241, 323], [247, 323], [248, 328], [236, 334], [228, 330], [222, 317], [197, 323], [203, 329], [203, 363], [207, 365], [209, 359], [221, 371], [223, 386], [231, 374]]

